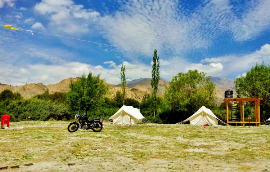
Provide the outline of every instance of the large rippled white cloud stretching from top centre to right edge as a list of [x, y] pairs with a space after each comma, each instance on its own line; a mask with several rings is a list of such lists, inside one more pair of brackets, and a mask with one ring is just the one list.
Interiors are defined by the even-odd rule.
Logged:
[[[209, 48], [221, 35], [233, 41], [253, 39], [270, 27], [270, 1], [205, 1], [188, 11], [181, 1], [132, 1], [100, 19], [103, 36], [129, 57], [161, 54], [183, 55]], [[132, 54], [133, 56], [130, 56]]]

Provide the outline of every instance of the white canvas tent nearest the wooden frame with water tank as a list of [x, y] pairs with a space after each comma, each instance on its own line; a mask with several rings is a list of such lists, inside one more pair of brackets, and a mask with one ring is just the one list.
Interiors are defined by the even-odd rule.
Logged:
[[205, 108], [205, 106], [202, 106], [199, 110], [197, 110], [197, 112], [195, 112], [189, 118], [179, 123], [184, 123], [184, 122], [189, 121], [190, 125], [192, 126], [203, 126], [205, 124], [209, 126], [212, 126], [212, 125], [217, 126], [218, 120], [221, 121], [220, 119], [218, 119], [217, 116], [215, 116], [215, 114], [210, 109]]

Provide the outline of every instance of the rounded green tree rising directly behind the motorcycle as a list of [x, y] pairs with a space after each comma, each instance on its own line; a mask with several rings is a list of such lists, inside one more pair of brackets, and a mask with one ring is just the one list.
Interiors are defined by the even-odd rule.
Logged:
[[75, 110], [81, 107], [86, 115], [89, 109], [94, 110], [103, 104], [108, 91], [108, 86], [100, 79], [100, 74], [94, 77], [92, 72], [87, 77], [83, 74], [77, 81], [71, 82], [69, 87], [66, 98], [71, 108]]

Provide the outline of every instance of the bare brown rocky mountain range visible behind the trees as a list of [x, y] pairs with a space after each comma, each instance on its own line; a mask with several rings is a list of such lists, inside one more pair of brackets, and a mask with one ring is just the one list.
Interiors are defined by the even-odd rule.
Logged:
[[[47, 86], [42, 83], [31, 83], [22, 86], [0, 84], [0, 92], [5, 89], [10, 89], [13, 92], [19, 92], [24, 98], [28, 99], [30, 97], [33, 97], [34, 95], [44, 93], [46, 89], [48, 89], [51, 94], [55, 93], [56, 91], [67, 92], [69, 90], [70, 82], [76, 81], [78, 78], [79, 77], [67, 78], [62, 80], [61, 82], [58, 82], [56, 84], [49, 84]], [[210, 79], [216, 84], [215, 103], [219, 105], [223, 102], [225, 90], [232, 89], [232, 87], [234, 86], [233, 79], [219, 77], [210, 77]], [[108, 83], [106, 84], [109, 86], [109, 92], [107, 96], [110, 98], [114, 97], [117, 90], [121, 90], [121, 85], [113, 85]], [[152, 90], [150, 78], [140, 78], [128, 81], [126, 86], [127, 97], [134, 98], [138, 101], [142, 100], [144, 94], [150, 94]], [[169, 86], [169, 82], [161, 78], [157, 92], [158, 96], [162, 96], [164, 94], [165, 86]]]

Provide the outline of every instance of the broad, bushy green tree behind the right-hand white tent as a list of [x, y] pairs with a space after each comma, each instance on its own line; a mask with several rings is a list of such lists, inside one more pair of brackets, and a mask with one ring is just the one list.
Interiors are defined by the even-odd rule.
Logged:
[[[189, 70], [173, 76], [164, 93], [165, 121], [175, 122], [192, 115], [202, 105], [214, 106], [215, 85], [204, 72]], [[166, 114], [164, 113], [164, 114]]]

